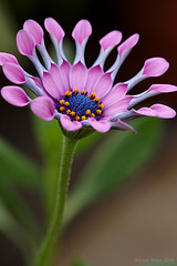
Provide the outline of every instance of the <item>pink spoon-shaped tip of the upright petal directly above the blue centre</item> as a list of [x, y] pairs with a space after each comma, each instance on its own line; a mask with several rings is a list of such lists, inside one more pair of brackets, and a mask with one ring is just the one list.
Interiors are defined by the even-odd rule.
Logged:
[[92, 34], [92, 25], [87, 20], [80, 20], [73, 29], [72, 37], [80, 44]]

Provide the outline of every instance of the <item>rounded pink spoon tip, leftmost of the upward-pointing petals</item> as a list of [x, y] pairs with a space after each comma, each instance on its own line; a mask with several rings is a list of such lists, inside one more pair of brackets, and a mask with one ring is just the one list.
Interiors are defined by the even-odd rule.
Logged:
[[34, 38], [25, 30], [20, 30], [17, 34], [17, 45], [23, 55], [32, 55], [35, 48]]

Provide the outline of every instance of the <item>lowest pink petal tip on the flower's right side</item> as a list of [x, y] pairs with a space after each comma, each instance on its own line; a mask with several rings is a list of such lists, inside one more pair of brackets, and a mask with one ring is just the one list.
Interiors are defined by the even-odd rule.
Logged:
[[154, 104], [150, 108], [142, 108], [134, 111], [140, 115], [156, 116], [160, 119], [173, 119], [176, 116], [175, 110], [164, 104]]

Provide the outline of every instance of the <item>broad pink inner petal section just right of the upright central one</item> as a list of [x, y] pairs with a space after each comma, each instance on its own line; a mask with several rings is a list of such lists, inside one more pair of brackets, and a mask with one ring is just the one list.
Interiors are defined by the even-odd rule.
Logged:
[[88, 69], [87, 81], [84, 90], [90, 93], [102, 74], [103, 70], [100, 65]]

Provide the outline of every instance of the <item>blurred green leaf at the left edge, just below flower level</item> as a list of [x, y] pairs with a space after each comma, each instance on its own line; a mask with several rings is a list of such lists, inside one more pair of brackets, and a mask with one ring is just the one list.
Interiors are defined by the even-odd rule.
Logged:
[[24, 187], [39, 188], [40, 168], [0, 137], [0, 177]]

